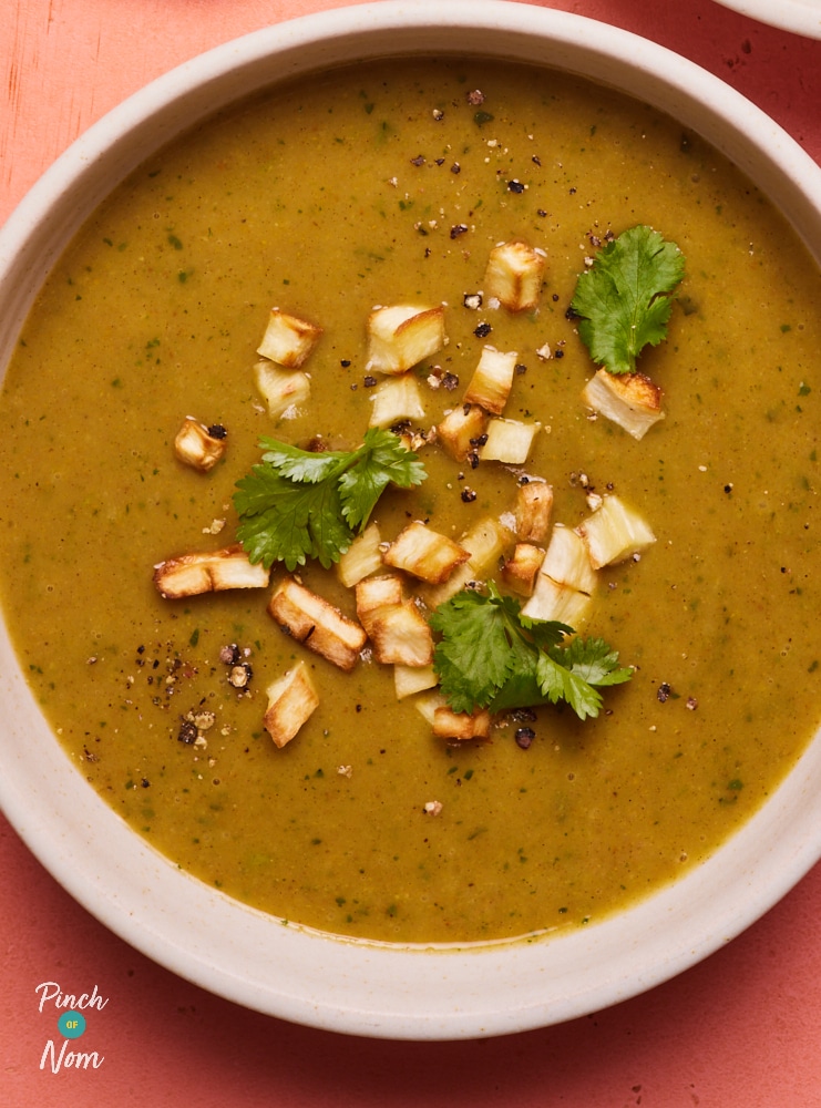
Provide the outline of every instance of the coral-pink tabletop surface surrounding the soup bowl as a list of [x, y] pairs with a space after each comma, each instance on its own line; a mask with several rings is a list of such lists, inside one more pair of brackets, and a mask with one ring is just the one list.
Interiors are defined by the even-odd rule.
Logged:
[[[465, 0], [469, 2], [469, 0]], [[821, 161], [821, 41], [711, 0], [543, 0], [639, 32], [745, 93]], [[332, 0], [0, 0], [0, 220], [89, 124], [146, 81]], [[778, 0], [772, 0], [778, 8]], [[675, 981], [558, 1027], [454, 1044], [294, 1026], [174, 977], [72, 901], [0, 818], [0, 1102], [345, 1108], [821, 1105], [821, 866]], [[91, 993], [99, 1068], [40, 1068], [37, 986]], [[91, 1038], [91, 1036], [89, 1036]]]

